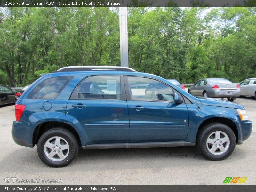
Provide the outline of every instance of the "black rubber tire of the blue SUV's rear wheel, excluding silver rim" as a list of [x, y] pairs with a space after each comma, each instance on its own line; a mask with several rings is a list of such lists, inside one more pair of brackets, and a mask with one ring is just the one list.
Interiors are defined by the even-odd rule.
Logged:
[[[51, 152], [51, 149], [47, 148], [47, 150], [44, 150], [44, 147], [45, 147], [44, 144], [50, 138], [53, 138], [53, 137], [60, 137], [61, 141], [64, 142], [64, 144], [66, 142], [67, 142], [66, 144], [68, 144], [69, 149], [67, 149], [67, 150], [62, 149], [63, 152], [59, 149], [59, 147], [61, 147], [61, 145], [58, 146], [58, 149], [56, 146], [54, 146], [54, 148], [56, 148], [56, 150], [60, 150], [62, 155], [64, 153], [66, 153], [65, 155], [67, 155], [67, 156], [63, 160], [60, 159], [57, 152], [56, 152], [56, 155], [54, 155], [53, 157], [56, 159], [59, 158], [59, 161], [51, 160], [46, 155], [47, 152], [45, 152], [45, 151], [49, 150]], [[55, 142], [52, 145], [55, 145]], [[44, 164], [46, 164], [50, 167], [64, 167], [64, 166], [70, 164], [75, 159], [77, 153], [78, 153], [78, 143], [77, 143], [76, 137], [74, 136], [74, 134], [72, 132], [70, 132], [66, 129], [63, 129], [63, 128], [54, 128], [54, 129], [50, 129], [50, 130], [46, 131], [40, 137], [40, 139], [38, 140], [38, 143], [37, 143], [37, 154], [38, 154], [39, 158], [43, 161]]]

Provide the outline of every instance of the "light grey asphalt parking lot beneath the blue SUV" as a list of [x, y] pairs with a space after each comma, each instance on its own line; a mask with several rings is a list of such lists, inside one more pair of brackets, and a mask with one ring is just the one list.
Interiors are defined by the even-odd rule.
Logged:
[[[255, 127], [256, 100], [248, 97], [235, 102], [245, 107]], [[36, 147], [14, 143], [14, 120], [14, 105], [0, 107], [1, 185], [221, 185], [226, 177], [248, 177], [242, 185], [256, 183], [255, 132], [223, 161], [206, 160], [195, 147], [98, 149], [79, 150], [67, 167], [51, 168], [41, 162]], [[6, 183], [5, 178], [11, 177], [41, 181]], [[62, 179], [62, 183], [42, 179]]]

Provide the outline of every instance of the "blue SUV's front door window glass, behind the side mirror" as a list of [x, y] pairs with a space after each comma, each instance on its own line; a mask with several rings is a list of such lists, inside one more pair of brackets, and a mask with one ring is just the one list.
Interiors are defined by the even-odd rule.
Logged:
[[174, 101], [173, 89], [146, 77], [128, 77], [132, 100]]

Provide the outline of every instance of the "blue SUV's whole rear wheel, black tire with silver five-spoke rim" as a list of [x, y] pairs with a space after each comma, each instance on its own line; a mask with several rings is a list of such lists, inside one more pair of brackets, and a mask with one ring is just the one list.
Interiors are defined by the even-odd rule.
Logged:
[[50, 167], [64, 167], [70, 164], [78, 153], [74, 134], [63, 128], [45, 132], [37, 143], [37, 154]]

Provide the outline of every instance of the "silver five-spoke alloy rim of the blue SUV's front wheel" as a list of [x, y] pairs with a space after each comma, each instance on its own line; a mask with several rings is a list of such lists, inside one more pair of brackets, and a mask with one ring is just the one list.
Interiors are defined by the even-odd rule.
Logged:
[[229, 145], [229, 137], [222, 131], [212, 132], [206, 140], [207, 149], [213, 155], [221, 155], [225, 153], [228, 150]]

